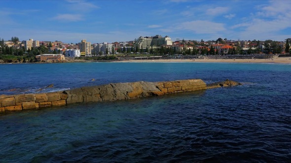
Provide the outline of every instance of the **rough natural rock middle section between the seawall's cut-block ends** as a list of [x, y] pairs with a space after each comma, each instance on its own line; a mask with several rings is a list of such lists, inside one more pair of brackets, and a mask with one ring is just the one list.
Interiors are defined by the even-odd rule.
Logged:
[[160, 84], [161, 83], [159, 82], [145, 81], [111, 83], [107, 85], [89, 86], [66, 90], [63, 93], [68, 94], [67, 104], [80, 102], [125, 100], [152, 95], [163, 95], [165, 93], [157, 87], [157, 85]]

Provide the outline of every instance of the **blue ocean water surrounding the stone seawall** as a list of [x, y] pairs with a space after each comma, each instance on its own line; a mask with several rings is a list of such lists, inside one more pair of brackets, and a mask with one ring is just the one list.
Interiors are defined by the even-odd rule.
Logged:
[[0, 163], [290, 163], [291, 64], [0, 64], [0, 94], [183, 79], [243, 85], [1, 114]]

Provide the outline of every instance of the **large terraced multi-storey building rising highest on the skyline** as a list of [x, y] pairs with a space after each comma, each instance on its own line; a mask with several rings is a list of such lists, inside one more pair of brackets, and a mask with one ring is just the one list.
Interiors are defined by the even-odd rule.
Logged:
[[161, 45], [172, 45], [173, 41], [169, 36], [162, 37], [160, 35], [151, 36], [151, 37], [139, 37], [136, 40], [135, 46], [140, 49], [146, 49], [149, 47], [158, 47]]

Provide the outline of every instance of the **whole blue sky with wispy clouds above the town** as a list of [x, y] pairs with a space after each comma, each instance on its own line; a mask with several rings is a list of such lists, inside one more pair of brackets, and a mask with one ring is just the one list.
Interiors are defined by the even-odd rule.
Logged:
[[78, 43], [162, 35], [185, 40], [291, 38], [291, 0], [1, 0], [0, 38]]

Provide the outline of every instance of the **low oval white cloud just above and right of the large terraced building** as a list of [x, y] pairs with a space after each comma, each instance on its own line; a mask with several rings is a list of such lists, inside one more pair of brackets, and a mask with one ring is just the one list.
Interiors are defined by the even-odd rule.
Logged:
[[224, 31], [224, 25], [221, 23], [214, 23], [210, 21], [191, 21], [181, 23], [178, 29], [190, 30], [197, 34], [211, 34]]

